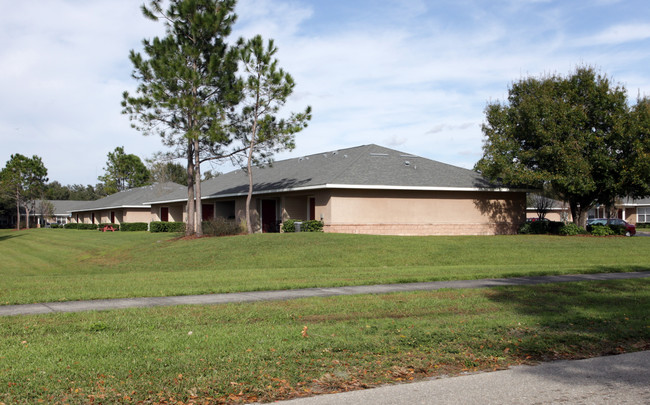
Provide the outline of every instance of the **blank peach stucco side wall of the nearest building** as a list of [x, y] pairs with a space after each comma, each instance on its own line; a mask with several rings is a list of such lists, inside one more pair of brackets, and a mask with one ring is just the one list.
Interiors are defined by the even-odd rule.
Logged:
[[516, 232], [525, 220], [526, 195], [333, 190], [327, 204], [322, 206], [322, 202], [317, 198], [316, 205], [324, 213], [326, 232], [494, 235]]

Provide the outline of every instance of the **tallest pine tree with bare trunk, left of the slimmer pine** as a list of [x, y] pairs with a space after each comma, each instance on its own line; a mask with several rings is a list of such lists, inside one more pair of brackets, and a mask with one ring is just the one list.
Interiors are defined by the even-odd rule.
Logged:
[[201, 152], [220, 157], [229, 144], [222, 119], [240, 98], [237, 53], [226, 43], [234, 7], [235, 0], [171, 0], [163, 10], [161, 0], [152, 0], [143, 14], [162, 20], [166, 35], [143, 41], [146, 57], [130, 54], [140, 84], [136, 96], [124, 93], [123, 113], [187, 160], [188, 234], [202, 233]]

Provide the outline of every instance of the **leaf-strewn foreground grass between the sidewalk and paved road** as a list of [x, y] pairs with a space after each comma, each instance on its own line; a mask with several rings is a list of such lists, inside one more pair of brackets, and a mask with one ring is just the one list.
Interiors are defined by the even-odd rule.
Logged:
[[644, 350], [648, 308], [640, 279], [8, 317], [0, 403], [271, 401]]

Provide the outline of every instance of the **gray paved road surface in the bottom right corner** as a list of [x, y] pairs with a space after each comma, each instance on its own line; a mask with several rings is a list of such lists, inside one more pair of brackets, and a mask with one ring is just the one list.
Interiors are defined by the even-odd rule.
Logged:
[[650, 351], [388, 385], [283, 405], [650, 404]]

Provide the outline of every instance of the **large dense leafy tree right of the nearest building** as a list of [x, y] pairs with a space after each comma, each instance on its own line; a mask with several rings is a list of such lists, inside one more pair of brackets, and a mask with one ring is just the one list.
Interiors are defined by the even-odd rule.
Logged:
[[630, 108], [622, 85], [591, 67], [515, 82], [488, 104], [475, 169], [509, 186], [550, 187], [576, 224], [596, 203], [649, 194], [648, 101]]

